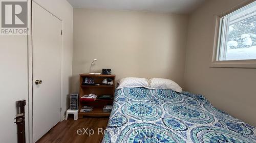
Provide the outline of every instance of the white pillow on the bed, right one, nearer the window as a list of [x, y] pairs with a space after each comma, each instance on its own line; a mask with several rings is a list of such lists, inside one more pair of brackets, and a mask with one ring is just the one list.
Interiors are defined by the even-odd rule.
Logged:
[[182, 93], [182, 88], [179, 84], [170, 79], [151, 78], [150, 89], [168, 89]]

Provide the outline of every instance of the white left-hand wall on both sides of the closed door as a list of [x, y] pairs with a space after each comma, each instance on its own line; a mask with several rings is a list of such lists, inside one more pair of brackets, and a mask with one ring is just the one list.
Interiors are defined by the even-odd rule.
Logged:
[[[36, 0], [36, 3], [63, 20], [61, 115], [68, 106], [72, 75], [73, 8], [65, 0]], [[26, 139], [28, 132], [28, 39], [27, 36], [0, 36], [0, 142], [17, 142], [15, 101], [26, 99]]]

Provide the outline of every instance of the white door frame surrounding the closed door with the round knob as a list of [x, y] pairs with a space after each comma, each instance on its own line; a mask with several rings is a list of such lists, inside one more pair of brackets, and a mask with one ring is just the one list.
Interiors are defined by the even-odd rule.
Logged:
[[[33, 35], [32, 35], [32, 2], [36, 3], [37, 5], [39, 5], [41, 8], [45, 9], [46, 11], [48, 11], [46, 8], [42, 7], [40, 4], [38, 4], [37, 2], [35, 2], [34, 0], [31, 1], [27, 1], [29, 3], [30, 9], [28, 9], [28, 21], [30, 21], [30, 25], [29, 25], [29, 33], [27, 35], [27, 43], [28, 43], [28, 119], [29, 119], [29, 130], [28, 130], [28, 134], [29, 134], [29, 143], [33, 143], [33, 47], [32, 47], [32, 42], [33, 42]], [[57, 19], [60, 20], [61, 22], [61, 31], [63, 30], [63, 20], [61, 18], [59, 18], [58, 16], [54, 15], [53, 13], [51, 13], [50, 11], [48, 11], [50, 14], [52, 14], [54, 17], [56, 17]], [[62, 44], [62, 35], [60, 36], [60, 46], [61, 46], [61, 50], [60, 50], [60, 108], [62, 107], [62, 88], [63, 88], [63, 84], [62, 84], [62, 50], [63, 50], [63, 44]], [[60, 111], [60, 117], [59, 117], [59, 121], [62, 120], [61, 117], [61, 111]]]

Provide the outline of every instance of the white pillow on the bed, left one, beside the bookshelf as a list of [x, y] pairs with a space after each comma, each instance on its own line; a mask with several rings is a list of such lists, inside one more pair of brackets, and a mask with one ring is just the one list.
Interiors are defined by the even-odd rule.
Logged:
[[117, 89], [138, 88], [138, 87], [149, 88], [150, 87], [150, 79], [147, 79], [147, 78], [126, 77], [126, 78], [122, 78], [117, 83], [119, 84]]

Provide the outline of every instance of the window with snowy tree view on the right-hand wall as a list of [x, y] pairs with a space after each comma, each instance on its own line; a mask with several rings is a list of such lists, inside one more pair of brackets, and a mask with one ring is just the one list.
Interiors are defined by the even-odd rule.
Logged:
[[256, 60], [256, 2], [219, 16], [215, 62]]

